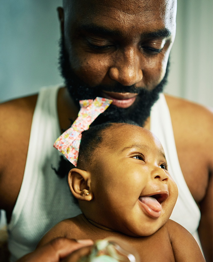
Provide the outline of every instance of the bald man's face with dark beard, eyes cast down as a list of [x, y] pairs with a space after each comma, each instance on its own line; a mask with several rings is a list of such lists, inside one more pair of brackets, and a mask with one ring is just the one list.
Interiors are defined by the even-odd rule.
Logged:
[[64, 1], [61, 66], [72, 97], [110, 98], [121, 119], [140, 108], [134, 121], [142, 112], [144, 123], [165, 82], [175, 14], [163, 0]]

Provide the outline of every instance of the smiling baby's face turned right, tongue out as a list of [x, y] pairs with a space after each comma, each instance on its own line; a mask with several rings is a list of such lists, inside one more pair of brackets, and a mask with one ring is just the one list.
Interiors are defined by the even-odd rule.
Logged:
[[141, 127], [116, 124], [106, 129], [93, 155], [93, 214], [87, 218], [131, 236], [162, 227], [178, 191], [159, 140]]

